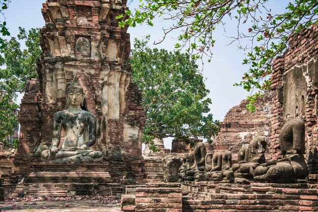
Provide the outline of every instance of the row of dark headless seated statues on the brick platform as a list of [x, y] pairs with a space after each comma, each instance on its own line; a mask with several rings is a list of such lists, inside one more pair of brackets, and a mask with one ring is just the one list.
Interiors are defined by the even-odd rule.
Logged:
[[190, 155], [183, 157], [179, 168], [180, 180], [221, 181], [249, 184], [253, 181], [268, 183], [297, 183], [308, 176], [305, 153], [305, 125], [301, 119], [290, 118], [279, 134], [281, 159], [265, 161], [266, 137], [256, 136], [238, 152], [238, 163], [232, 165], [232, 153], [206, 152], [198, 142]]

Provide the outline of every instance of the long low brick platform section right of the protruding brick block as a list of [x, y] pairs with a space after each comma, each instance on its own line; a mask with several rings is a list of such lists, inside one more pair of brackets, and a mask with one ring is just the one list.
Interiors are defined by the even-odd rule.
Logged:
[[318, 185], [185, 182], [182, 211], [318, 211]]

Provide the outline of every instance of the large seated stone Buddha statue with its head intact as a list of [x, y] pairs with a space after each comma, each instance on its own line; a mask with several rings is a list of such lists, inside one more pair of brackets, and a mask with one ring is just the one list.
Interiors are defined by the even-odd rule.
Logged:
[[[42, 161], [89, 162], [103, 160], [102, 152], [89, 149], [96, 142], [96, 117], [81, 109], [84, 98], [83, 88], [74, 78], [66, 91], [69, 108], [54, 114], [52, 144], [48, 150], [41, 153]], [[65, 137], [62, 147], [58, 148], [62, 127], [65, 131]]]

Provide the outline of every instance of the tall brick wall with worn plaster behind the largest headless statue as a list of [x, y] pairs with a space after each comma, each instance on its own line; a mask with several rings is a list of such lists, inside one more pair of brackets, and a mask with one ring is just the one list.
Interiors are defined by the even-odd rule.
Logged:
[[272, 73], [271, 153], [281, 158], [279, 132], [284, 116], [298, 117], [305, 122], [306, 159], [310, 173], [317, 164], [317, 100], [318, 100], [318, 25], [295, 33], [289, 48], [275, 58]]

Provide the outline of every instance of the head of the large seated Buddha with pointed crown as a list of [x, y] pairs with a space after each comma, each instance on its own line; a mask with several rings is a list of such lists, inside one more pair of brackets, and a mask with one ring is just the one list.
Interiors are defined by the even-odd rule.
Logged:
[[79, 105], [83, 106], [84, 98], [85, 94], [83, 92], [83, 88], [78, 83], [77, 79], [74, 78], [73, 82], [66, 90], [67, 102], [73, 107], [77, 107]]

